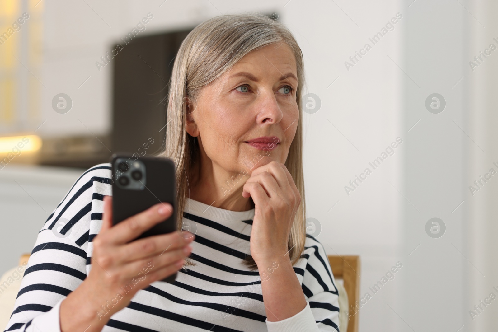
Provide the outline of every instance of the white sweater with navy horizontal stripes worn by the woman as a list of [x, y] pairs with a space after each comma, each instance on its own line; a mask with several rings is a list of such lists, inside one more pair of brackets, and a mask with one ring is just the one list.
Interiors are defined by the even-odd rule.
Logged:
[[[5, 331], [60, 332], [60, 304], [92, 267], [92, 240], [102, 225], [104, 195], [112, 195], [111, 176], [110, 164], [88, 169], [48, 217]], [[190, 255], [196, 266], [180, 270], [173, 284], [155, 281], [139, 290], [102, 331], [339, 331], [334, 276], [323, 245], [310, 235], [293, 265], [306, 307], [280, 322], [266, 320], [259, 273], [242, 263], [250, 254], [253, 216], [254, 209], [229, 211], [187, 198], [183, 222], [196, 234]]]

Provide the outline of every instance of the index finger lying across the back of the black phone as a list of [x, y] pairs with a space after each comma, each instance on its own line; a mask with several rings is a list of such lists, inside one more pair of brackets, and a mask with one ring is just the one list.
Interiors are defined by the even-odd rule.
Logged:
[[[107, 233], [106, 238], [112, 244], [124, 244], [142, 234], [155, 224], [171, 217], [173, 207], [169, 203], [159, 203], [149, 209], [119, 222]], [[175, 221], [171, 221], [175, 222]]]

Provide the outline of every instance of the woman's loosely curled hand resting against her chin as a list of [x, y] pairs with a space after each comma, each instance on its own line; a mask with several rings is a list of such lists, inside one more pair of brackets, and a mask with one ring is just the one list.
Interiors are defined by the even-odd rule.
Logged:
[[[242, 196], [252, 197], [254, 219], [250, 252], [256, 264], [283, 258], [301, 195], [284, 164], [272, 161], [254, 169]], [[287, 257], [289, 259], [289, 257]]]

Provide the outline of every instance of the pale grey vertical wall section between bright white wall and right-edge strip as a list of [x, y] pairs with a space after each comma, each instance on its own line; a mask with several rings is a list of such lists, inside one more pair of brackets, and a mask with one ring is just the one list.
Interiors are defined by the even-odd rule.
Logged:
[[[471, 115], [466, 107], [468, 82], [457, 84], [468, 61], [464, 50], [472, 17], [458, 2], [446, 0], [416, 1], [409, 10], [403, 127], [407, 130], [420, 121], [408, 132], [405, 146], [400, 191], [406, 197], [401, 219], [406, 275], [400, 280], [401, 306], [393, 307], [396, 313], [391, 315], [399, 315], [401, 331], [474, 331], [465, 311], [466, 272], [473, 268], [465, 258], [468, 205], [460, 203], [467, 190], [465, 160], [475, 146], [465, 134]], [[438, 114], [425, 107], [433, 93], [446, 100]], [[432, 218], [446, 225], [440, 238], [426, 233]]]

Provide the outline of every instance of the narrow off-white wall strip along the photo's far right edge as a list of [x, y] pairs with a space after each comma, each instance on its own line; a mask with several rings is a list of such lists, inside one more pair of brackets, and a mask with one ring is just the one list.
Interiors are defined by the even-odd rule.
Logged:
[[[470, 266], [467, 270], [469, 278], [469, 295], [465, 303], [465, 315], [469, 326], [474, 331], [493, 331], [498, 323], [498, 304], [493, 301], [491, 305], [484, 308], [474, 320], [470, 318], [469, 311], [474, 312], [474, 306], [479, 305], [480, 301], [494, 293], [498, 296], [498, 245], [497, 245], [497, 198], [498, 184], [495, 176], [485, 183], [478, 192], [471, 194], [468, 186], [484, 176], [490, 168], [498, 171], [493, 162], [498, 164], [498, 137], [496, 130], [497, 118], [497, 87], [498, 87], [498, 55], [497, 51], [484, 59], [479, 67], [474, 71], [468, 65], [473, 61], [474, 56], [479, 55], [480, 51], [485, 51], [491, 43], [498, 47], [498, 22], [495, 14], [498, 10], [498, 3], [493, 0], [480, 0], [469, 3], [467, 7], [479, 20], [484, 27], [474, 18], [471, 18], [473, 24], [470, 26], [472, 38], [469, 47], [466, 50], [466, 70], [465, 80], [468, 80], [470, 102], [469, 116], [467, 125], [468, 134], [479, 146], [469, 151], [466, 165], [469, 169], [466, 182], [465, 202], [469, 206], [469, 220], [465, 224], [465, 230], [468, 234], [469, 243], [467, 245], [467, 258], [476, 268]], [[471, 142], [471, 144], [474, 144]], [[479, 272], [476, 272], [479, 269]], [[484, 275], [484, 276], [483, 276]], [[477, 313], [477, 312], [476, 312]]]

